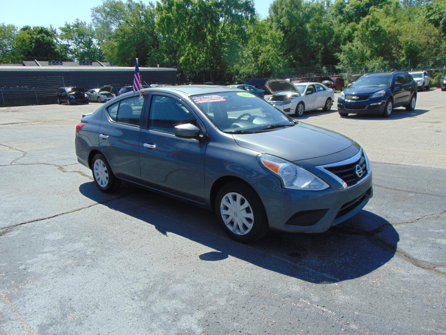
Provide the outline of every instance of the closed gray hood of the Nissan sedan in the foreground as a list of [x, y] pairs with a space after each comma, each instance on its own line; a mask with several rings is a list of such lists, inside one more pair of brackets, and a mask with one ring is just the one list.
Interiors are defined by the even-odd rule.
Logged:
[[296, 126], [257, 134], [233, 134], [240, 146], [291, 162], [334, 154], [354, 141], [325, 128], [299, 122]]

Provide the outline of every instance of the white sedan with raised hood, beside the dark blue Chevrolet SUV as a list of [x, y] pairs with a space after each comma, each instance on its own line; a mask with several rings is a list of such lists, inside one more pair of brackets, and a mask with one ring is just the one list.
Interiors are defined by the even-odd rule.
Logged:
[[266, 86], [273, 93], [266, 99], [287, 114], [302, 116], [306, 110], [322, 108], [329, 111], [335, 100], [335, 91], [320, 83], [292, 84], [283, 79], [272, 79]]

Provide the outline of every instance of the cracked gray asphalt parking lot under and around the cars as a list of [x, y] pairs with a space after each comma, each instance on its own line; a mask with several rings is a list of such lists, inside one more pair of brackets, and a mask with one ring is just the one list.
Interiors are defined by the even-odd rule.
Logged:
[[444, 334], [445, 97], [304, 114], [364, 147], [374, 197], [326, 233], [252, 245], [206, 209], [99, 192], [74, 152], [99, 104], [0, 108], [0, 334]]

